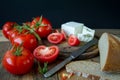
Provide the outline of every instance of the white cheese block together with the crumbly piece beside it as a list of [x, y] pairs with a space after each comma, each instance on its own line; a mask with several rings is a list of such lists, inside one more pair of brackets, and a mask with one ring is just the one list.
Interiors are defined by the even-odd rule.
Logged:
[[94, 38], [95, 30], [92, 30], [82, 23], [67, 22], [62, 24], [61, 29], [69, 36], [75, 35], [80, 41], [89, 42]]

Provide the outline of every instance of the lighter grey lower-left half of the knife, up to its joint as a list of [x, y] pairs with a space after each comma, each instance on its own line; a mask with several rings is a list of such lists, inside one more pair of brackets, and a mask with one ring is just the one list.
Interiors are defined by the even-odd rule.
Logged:
[[62, 61], [60, 64], [56, 65], [51, 70], [49, 70], [48, 72], [46, 72], [44, 74], [44, 77], [49, 77], [49, 76], [53, 75], [55, 72], [57, 72], [58, 70], [60, 70], [61, 68], [63, 68], [71, 60], [72, 60], [72, 57], [68, 57], [67, 59], [65, 59], [64, 61]]

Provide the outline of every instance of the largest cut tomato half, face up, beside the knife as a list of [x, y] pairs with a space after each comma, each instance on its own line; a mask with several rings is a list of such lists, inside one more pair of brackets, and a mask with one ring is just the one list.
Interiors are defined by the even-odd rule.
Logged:
[[58, 54], [59, 54], [59, 48], [57, 46], [50, 46], [50, 47], [46, 47], [44, 45], [38, 46], [33, 52], [35, 58], [41, 63], [44, 62], [51, 63], [55, 61]]

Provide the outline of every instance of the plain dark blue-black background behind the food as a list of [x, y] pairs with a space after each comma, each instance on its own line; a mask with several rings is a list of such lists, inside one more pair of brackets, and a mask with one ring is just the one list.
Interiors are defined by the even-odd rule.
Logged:
[[0, 28], [6, 21], [19, 24], [33, 17], [48, 18], [54, 28], [68, 21], [90, 28], [120, 28], [119, 0], [2, 0]]

